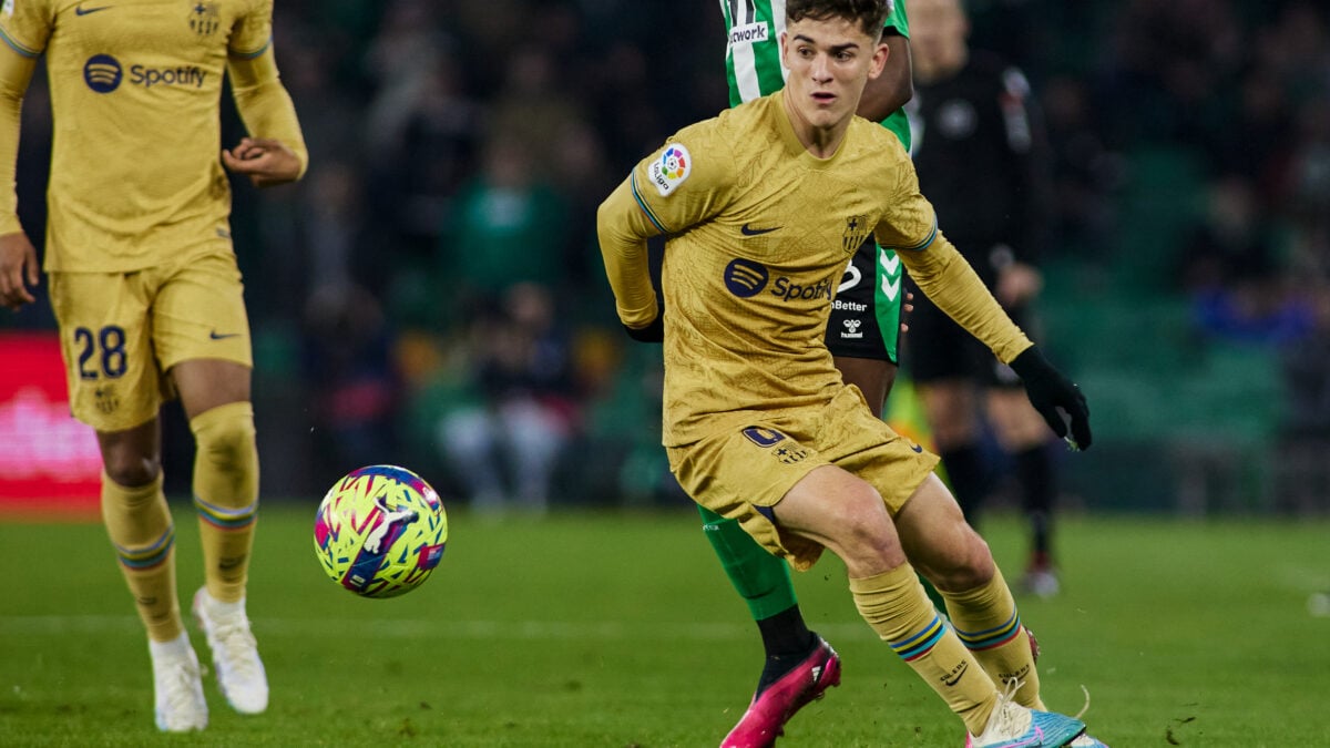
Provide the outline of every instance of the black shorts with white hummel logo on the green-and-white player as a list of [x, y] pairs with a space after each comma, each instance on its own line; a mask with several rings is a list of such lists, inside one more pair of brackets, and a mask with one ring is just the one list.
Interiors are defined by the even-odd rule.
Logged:
[[899, 363], [903, 276], [895, 252], [871, 238], [859, 246], [831, 302], [826, 333], [831, 355]]

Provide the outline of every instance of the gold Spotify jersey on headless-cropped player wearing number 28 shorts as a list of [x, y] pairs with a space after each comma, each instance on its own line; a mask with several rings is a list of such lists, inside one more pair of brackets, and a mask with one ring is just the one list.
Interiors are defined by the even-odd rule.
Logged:
[[227, 59], [271, 0], [4, 0], [0, 41], [45, 53], [55, 118], [47, 270], [128, 272], [227, 240]]

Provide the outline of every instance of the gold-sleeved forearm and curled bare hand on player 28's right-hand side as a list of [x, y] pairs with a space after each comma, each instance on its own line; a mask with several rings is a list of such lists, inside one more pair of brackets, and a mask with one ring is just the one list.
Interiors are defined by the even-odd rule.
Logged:
[[226, 67], [235, 108], [250, 137], [222, 150], [227, 169], [246, 174], [254, 186], [294, 182], [305, 176], [309, 152], [295, 104], [277, 72], [271, 44], [255, 55], [235, 55]]

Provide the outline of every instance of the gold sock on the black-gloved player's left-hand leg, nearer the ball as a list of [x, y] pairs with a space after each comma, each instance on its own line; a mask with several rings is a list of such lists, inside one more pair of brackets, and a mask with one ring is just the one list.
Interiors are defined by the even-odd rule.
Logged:
[[983, 733], [998, 703], [998, 687], [942, 622], [914, 568], [906, 563], [851, 579], [850, 592], [878, 636], [947, 701], [971, 735]]

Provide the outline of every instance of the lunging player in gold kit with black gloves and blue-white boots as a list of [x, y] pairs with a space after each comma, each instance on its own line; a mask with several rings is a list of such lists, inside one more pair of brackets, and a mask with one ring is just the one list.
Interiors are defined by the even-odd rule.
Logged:
[[[790, 0], [785, 89], [688, 126], [641, 161], [600, 208], [601, 253], [624, 325], [664, 326], [662, 441], [689, 495], [798, 570], [825, 548], [841, 556], [861, 615], [962, 719], [971, 745], [1064, 745], [1084, 724], [1044, 711], [1011, 591], [932, 474], [938, 458], [843, 383], [823, 342], [845, 264], [871, 234], [1016, 369], [1059, 435], [1091, 443], [1079, 389], [938, 230], [896, 137], [854, 116], [888, 55], [886, 11], [882, 0]], [[661, 234], [664, 319], [646, 253]]]

